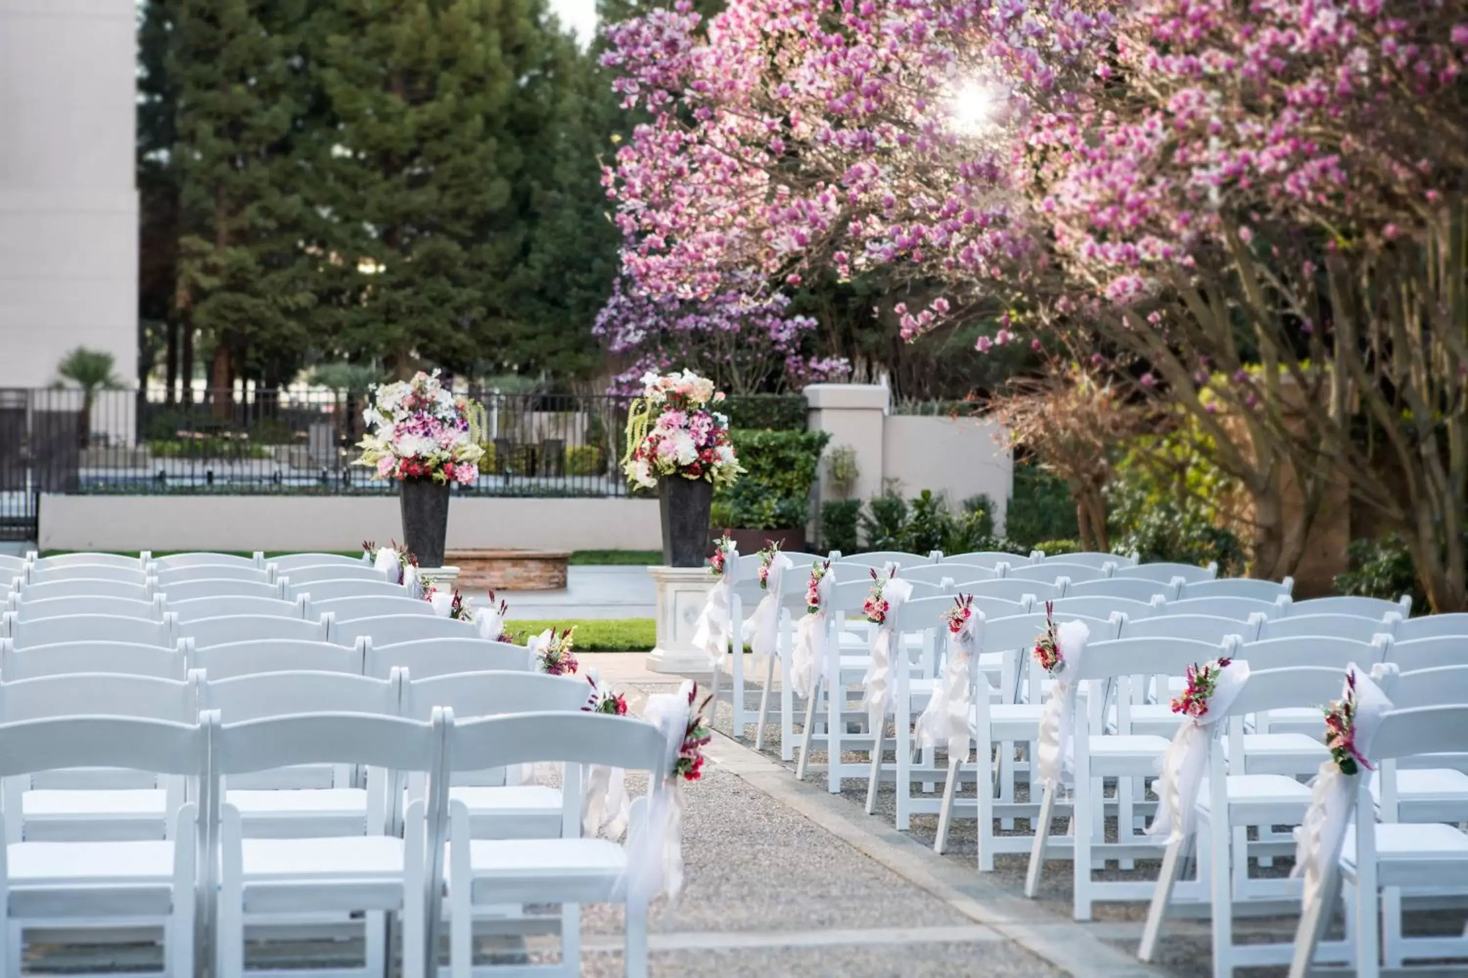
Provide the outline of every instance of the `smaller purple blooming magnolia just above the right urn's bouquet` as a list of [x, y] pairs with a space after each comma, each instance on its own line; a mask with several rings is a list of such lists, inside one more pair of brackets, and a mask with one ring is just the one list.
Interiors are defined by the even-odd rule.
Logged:
[[709, 299], [653, 296], [618, 282], [592, 326], [612, 353], [634, 358], [609, 393], [639, 393], [646, 374], [674, 364], [699, 369], [731, 394], [844, 378], [846, 359], [802, 352], [816, 321], [787, 315], [788, 305], [782, 295], [752, 299], [733, 290]]

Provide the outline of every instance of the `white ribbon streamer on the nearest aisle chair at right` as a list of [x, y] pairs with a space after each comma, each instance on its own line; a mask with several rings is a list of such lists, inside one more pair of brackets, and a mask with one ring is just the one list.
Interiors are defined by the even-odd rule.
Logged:
[[[1367, 757], [1371, 752], [1371, 738], [1376, 736], [1381, 717], [1392, 708], [1392, 701], [1380, 686], [1356, 669], [1355, 663], [1346, 669], [1346, 674], [1355, 674], [1356, 679], [1353, 743], [1356, 751]], [[1345, 695], [1343, 691], [1342, 698]], [[1346, 826], [1351, 824], [1352, 793], [1361, 776], [1361, 770], [1343, 774], [1334, 760], [1330, 760], [1320, 765], [1320, 773], [1311, 782], [1309, 809], [1296, 836], [1295, 869], [1290, 871], [1290, 875], [1305, 877], [1305, 906], [1314, 903], [1330, 864], [1340, 858], [1340, 843], [1346, 836]], [[1365, 812], [1364, 817], [1373, 815]]]

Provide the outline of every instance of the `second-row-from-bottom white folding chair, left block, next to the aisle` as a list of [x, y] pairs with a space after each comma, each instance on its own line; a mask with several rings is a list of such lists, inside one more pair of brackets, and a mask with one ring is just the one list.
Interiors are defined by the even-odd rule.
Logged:
[[[455, 723], [462, 723], [506, 713], [575, 713], [587, 704], [589, 694], [590, 686], [577, 676], [523, 670], [452, 673], [408, 682], [402, 716], [424, 720], [435, 707], [443, 707], [454, 711]], [[505, 768], [459, 768], [449, 779], [449, 801], [468, 808], [474, 839], [556, 839], [581, 818], [578, 806], [564, 802], [561, 789], [506, 784]]]

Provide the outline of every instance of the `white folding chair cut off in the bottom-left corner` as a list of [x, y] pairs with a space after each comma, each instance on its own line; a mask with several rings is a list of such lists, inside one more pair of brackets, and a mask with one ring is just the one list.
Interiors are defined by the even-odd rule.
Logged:
[[[200, 780], [207, 749], [197, 724], [128, 717], [28, 720], [0, 724], [0, 777], [109, 767]], [[21, 814], [6, 809], [0, 817], [9, 823]], [[0, 900], [7, 922], [0, 927], [0, 960], [7, 972], [21, 974], [22, 928], [29, 922], [107, 930], [161, 925], [160, 974], [192, 975], [200, 849], [195, 805], [181, 804], [167, 818], [169, 839], [6, 845]]]

